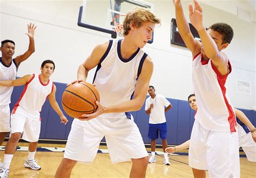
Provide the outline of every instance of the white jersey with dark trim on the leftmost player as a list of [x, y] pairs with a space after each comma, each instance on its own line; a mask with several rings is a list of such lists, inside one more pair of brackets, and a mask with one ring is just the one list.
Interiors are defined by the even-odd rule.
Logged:
[[[0, 80], [15, 80], [16, 74], [17, 74], [17, 65], [14, 59], [12, 59], [10, 66], [6, 66], [2, 61], [2, 57], [0, 57]], [[13, 89], [14, 89], [13, 86], [11, 87], [0, 86], [0, 106], [10, 104], [11, 93]]]

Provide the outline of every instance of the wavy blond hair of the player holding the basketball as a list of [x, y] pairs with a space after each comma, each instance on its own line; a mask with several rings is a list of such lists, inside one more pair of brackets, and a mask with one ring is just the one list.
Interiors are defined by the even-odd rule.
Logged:
[[144, 22], [152, 22], [155, 24], [160, 24], [161, 20], [154, 15], [150, 10], [146, 8], [134, 8], [130, 12], [126, 13], [125, 19], [123, 22], [124, 32], [123, 35], [128, 35], [130, 28], [130, 23], [133, 22], [134, 25], [138, 28], [142, 26]]

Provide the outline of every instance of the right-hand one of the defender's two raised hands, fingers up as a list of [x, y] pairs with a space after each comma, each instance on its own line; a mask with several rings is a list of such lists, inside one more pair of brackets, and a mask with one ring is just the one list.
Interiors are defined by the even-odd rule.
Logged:
[[204, 28], [203, 25], [203, 10], [197, 0], [194, 0], [194, 8], [192, 4], [188, 5], [190, 11], [190, 22], [197, 29], [197, 31]]

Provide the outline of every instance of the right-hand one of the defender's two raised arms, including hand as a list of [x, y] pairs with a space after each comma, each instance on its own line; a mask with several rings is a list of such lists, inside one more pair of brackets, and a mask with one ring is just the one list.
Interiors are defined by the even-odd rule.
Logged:
[[[227, 74], [227, 63], [228, 58], [225, 53], [220, 52], [214, 39], [209, 35], [206, 31], [205, 26], [203, 24], [203, 10], [197, 0], [194, 0], [194, 7], [192, 4], [188, 6], [190, 11], [190, 22], [197, 29], [201, 42], [204, 47], [205, 54], [208, 58], [210, 58], [213, 64], [218, 68], [221, 74]], [[224, 47], [224, 49], [227, 45]]]

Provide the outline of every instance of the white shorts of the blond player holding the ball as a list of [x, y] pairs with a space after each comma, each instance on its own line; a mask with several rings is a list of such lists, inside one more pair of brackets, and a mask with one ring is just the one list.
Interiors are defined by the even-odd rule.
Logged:
[[132, 120], [97, 117], [73, 120], [64, 158], [92, 163], [104, 136], [112, 163], [148, 156], [142, 135]]

